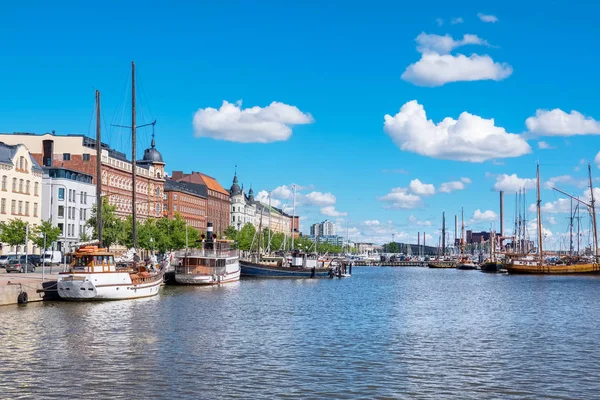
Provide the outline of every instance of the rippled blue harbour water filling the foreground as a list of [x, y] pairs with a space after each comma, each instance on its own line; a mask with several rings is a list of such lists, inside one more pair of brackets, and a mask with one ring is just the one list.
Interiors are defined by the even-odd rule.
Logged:
[[600, 277], [355, 268], [0, 308], [2, 398], [600, 397]]

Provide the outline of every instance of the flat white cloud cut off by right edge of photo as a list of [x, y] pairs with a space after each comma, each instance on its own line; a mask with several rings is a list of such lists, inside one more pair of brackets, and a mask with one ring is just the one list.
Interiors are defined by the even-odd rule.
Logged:
[[537, 110], [525, 120], [527, 129], [538, 136], [599, 135], [600, 121], [573, 110], [567, 114], [559, 108]]

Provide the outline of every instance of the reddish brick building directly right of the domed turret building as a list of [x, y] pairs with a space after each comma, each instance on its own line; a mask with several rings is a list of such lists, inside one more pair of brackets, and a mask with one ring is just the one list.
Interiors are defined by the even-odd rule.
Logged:
[[173, 179], [165, 181], [164, 213], [173, 219], [179, 213], [186, 223], [206, 232], [206, 203], [208, 188], [190, 182], [177, 182]]

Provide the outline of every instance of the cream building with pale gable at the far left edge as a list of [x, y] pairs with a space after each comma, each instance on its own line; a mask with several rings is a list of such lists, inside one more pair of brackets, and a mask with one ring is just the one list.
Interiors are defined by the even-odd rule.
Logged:
[[[42, 175], [42, 168], [26, 146], [0, 143], [0, 221], [20, 219], [30, 227], [41, 222]], [[34, 250], [28, 243], [27, 251]], [[16, 247], [2, 245], [3, 253], [15, 251]]]

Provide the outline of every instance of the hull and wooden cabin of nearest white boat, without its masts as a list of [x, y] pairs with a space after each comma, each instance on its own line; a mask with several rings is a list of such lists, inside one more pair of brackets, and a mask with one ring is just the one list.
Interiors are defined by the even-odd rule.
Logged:
[[[106, 249], [83, 246], [72, 254], [69, 270], [57, 279], [58, 295], [65, 300], [125, 300], [155, 296], [163, 271], [154, 267], [118, 268]], [[153, 271], [154, 269], [154, 271]]]

